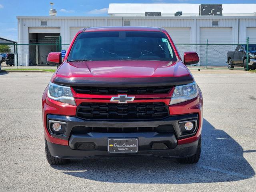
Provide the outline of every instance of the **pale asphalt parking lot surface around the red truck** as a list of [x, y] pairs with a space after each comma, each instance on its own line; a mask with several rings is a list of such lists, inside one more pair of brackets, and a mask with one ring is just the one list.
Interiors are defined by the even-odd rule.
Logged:
[[198, 164], [154, 157], [50, 166], [41, 97], [52, 73], [0, 73], [0, 191], [255, 191], [256, 74], [194, 72], [204, 96]]

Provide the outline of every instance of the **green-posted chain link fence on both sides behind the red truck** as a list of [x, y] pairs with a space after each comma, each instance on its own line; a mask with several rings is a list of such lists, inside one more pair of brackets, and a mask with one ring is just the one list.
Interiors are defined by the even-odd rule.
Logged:
[[[256, 39], [252, 39], [252, 42]], [[200, 44], [176, 44], [181, 57], [184, 52], [197, 52], [200, 58], [198, 64], [188, 66], [190, 69], [228, 69], [228, 52], [234, 52], [238, 45], [248, 47], [249, 39], [240, 44], [205, 43]], [[55, 71], [56, 66], [48, 65], [46, 60], [50, 52], [67, 52], [69, 43], [62, 42], [61, 37], [54, 40], [42, 40], [41, 42], [30, 41], [29, 44], [6, 44], [12, 48], [8, 52], [8, 58], [2, 62], [2, 70], [46, 70]], [[1, 46], [1, 45], [0, 45]], [[244, 54], [250, 50], [244, 50]], [[256, 51], [256, 50], [255, 50]], [[2, 53], [4, 54], [4, 53]], [[247, 56], [248, 58], [248, 56]], [[247, 60], [247, 63], [249, 60]], [[244, 69], [244, 66], [235, 67]], [[248, 66], [246, 66], [247, 69]]]

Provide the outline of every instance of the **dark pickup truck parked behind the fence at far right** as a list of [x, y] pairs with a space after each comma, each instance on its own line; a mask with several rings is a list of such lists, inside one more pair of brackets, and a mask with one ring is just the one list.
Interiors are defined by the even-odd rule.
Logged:
[[[243, 66], [244, 70], [247, 70], [246, 65], [246, 45], [238, 45], [234, 51], [229, 51], [227, 54], [228, 68], [234, 68], [234, 66]], [[256, 44], [249, 44], [249, 60], [248, 68], [249, 70], [256, 69]]]

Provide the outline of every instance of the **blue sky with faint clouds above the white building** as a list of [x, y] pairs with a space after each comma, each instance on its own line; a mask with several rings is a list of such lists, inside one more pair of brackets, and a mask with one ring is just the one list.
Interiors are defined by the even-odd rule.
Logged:
[[252, 3], [253, 0], [0, 0], [0, 37], [17, 39], [16, 16], [48, 16], [54, 2], [58, 16], [107, 16], [109, 3]]

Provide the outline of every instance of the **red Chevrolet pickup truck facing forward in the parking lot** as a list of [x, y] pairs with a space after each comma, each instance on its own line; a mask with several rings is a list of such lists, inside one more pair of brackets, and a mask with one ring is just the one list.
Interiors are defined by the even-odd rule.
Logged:
[[78, 31], [42, 97], [50, 164], [92, 156], [200, 158], [202, 92], [163, 28]]

